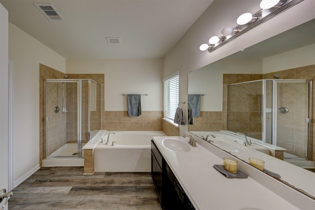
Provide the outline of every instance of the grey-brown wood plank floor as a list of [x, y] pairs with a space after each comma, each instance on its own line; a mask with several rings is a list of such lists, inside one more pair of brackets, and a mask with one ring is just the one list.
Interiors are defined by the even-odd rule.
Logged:
[[161, 210], [150, 173], [42, 167], [13, 189], [9, 210]]

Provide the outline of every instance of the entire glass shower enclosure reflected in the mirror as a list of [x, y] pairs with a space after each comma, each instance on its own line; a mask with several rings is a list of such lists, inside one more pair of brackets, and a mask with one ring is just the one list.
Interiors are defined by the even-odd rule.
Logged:
[[227, 130], [311, 159], [312, 81], [262, 79], [227, 85]]

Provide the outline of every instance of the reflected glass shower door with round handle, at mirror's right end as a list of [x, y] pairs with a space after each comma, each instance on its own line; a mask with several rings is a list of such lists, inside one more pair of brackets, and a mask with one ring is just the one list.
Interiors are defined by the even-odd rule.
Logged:
[[275, 81], [275, 145], [284, 159], [310, 158], [310, 82]]

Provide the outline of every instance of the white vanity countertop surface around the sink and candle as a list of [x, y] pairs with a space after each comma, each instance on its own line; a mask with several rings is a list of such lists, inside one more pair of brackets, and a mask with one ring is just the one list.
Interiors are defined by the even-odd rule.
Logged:
[[[205, 145], [200, 141], [197, 143], [197, 147], [191, 147], [189, 152], [174, 152], [160, 144], [163, 138], [165, 137], [154, 137], [153, 140], [196, 209], [299, 209], [295, 204], [289, 203], [253, 179], [248, 171], [256, 169], [241, 161], [239, 161], [238, 168], [247, 172], [248, 178], [226, 178], [221, 175], [213, 168], [213, 165], [223, 165], [223, 160], [215, 154], [231, 156], [219, 148], [207, 142], [205, 143], [209, 145]], [[179, 137], [179, 140], [188, 143], [189, 139]], [[201, 146], [201, 144], [203, 145]]]

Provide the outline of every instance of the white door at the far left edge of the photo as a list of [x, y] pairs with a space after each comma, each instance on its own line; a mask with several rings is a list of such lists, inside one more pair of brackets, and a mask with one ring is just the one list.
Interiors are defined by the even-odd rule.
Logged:
[[0, 4], [0, 190], [8, 189], [8, 23], [8, 11]]

